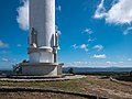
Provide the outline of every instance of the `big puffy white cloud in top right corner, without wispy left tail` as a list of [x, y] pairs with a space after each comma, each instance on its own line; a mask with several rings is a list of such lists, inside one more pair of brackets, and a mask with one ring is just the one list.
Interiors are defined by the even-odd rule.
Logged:
[[132, 0], [119, 0], [109, 10], [106, 20], [108, 23], [130, 24], [132, 22]]

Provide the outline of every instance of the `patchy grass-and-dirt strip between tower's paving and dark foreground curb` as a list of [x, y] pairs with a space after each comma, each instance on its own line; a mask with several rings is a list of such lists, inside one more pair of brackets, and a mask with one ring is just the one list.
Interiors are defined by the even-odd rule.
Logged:
[[[97, 76], [87, 76], [81, 79], [65, 80], [65, 81], [31, 81], [31, 82], [15, 82], [15, 81], [0, 81], [0, 87], [30, 87], [65, 90], [81, 94], [92, 94], [101, 97], [119, 98], [121, 95], [109, 95], [109, 90], [114, 90], [118, 94], [132, 94], [130, 86], [123, 86], [109, 79], [100, 79]], [[106, 91], [108, 90], [108, 91]], [[123, 95], [122, 95], [123, 96]]]

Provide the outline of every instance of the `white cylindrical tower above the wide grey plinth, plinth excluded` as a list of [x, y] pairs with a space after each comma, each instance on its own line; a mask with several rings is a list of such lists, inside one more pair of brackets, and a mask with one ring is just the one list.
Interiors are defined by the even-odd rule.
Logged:
[[55, 0], [30, 1], [30, 63], [54, 63]]

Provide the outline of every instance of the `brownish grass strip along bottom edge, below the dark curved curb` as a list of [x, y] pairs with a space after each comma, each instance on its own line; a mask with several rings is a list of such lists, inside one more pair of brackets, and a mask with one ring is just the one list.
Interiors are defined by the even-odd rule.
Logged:
[[51, 94], [51, 92], [0, 92], [2, 99], [88, 99], [72, 95]]

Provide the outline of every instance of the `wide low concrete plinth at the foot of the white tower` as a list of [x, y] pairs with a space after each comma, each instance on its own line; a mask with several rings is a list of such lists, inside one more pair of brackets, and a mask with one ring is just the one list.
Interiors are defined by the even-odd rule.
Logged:
[[20, 67], [22, 68], [22, 75], [32, 75], [32, 76], [57, 76], [58, 73], [57, 63], [22, 63]]

